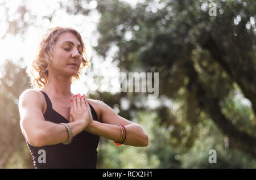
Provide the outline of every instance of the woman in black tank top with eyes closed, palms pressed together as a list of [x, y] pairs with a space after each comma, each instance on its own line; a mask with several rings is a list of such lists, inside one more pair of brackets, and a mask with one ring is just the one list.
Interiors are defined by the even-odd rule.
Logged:
[[102, 101], [74, 95], [71, 84], [89, 66], [81, 35], [73, 28], [48, 29], [28, 70], [36, 89], [19, 97], [20, 127], [36, 168], [96, 168], [99, 136], [145, 147], [141, 126]]

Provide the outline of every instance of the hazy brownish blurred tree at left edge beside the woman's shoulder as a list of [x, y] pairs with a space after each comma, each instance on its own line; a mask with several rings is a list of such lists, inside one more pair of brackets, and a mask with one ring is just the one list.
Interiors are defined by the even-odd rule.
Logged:
[[[20, 62], [23, 59], [20, 59]], [[18, 99], [24, 88], [29, 88], [28, 77], [24, 68], [20, 68], [10, 60], [2, 67], [0, 78], [0, 168], [5, 168], [9, 158], [21, 150], [26, 144], [19, 126]], [[18, 151], [19, 152], [19, 151]], [[30, 153], [29, 151], [27, 153]], [[25, 158], [24, 158], [25, 157]], [[31, 160], [31, 156], [22, 156], [19, 160]]]

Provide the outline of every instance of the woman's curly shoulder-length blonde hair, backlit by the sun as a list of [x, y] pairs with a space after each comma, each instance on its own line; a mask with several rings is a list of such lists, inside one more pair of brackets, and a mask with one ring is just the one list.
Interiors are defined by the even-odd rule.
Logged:
[[80, 44], [82, 45], [82, 63], [79, 68], [79, 71], [75, 76], [71, 79], [71, 84], [80, 79], [80, 75], [82, 75], [82, 69], [90, 66], [90, 61], [88, 55], [86, 54], [86, 49], [84, 42], [82, 41], [82, 37], [76, 29], [71, 27], [54, 27], [48, 28], [46, 33], [42, 36], [42, 40], [39, 43], [39, 49], [36, 54], [36, 58], [32, 62], [31, 65], [27, 66], [27, 74], [30, 77], [31, 85], [38, 90], [43, 89], [48, 82], [48, 69], [49, 69], [49, 60], [53, 60], [52, 58], [52, 50], [57, 38], [61, 33], [71, 32], [73, 33]]

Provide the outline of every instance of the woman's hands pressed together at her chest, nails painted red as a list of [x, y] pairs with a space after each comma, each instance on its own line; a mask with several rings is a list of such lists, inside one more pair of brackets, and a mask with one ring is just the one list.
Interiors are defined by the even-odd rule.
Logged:
[[93, 121], [90, 107], [86, 105], [85, 95], [81, 97], [80, 93], [73, 97], [69, 114], [69, 122], [81, 121], [84, 128]]

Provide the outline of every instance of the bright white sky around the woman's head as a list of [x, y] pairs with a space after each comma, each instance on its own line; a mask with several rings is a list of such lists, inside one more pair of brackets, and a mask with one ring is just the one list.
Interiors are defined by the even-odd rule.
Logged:
[[[98, 22], [99, 16], [97, 14], [92, 14], [91, 16], [82, 16], [82, 15], [68, 15], [64, 10], [59, 9], [59, 1], [26, 1], [27, 8], [31, 11], [32, 15], [36, 15], [38, 18], [36, 19], [36, 27], [31, 26], [27, 29], [26, 34], [24, 35], [24, 40], [22, 37], [8, 35], [4, 40], [0, 41], [0, 49], [5, 49], [1, 51], [1, 59], [0, 63], [3, 63], [5, 59], [12, 59], [13, 62], [18, 62], [20, 57], [24, 58], [25, 63], [19, 64], [22, 67], [25, 67], [27, 63], [31, 63], [35, 58], [38, 43], [44, 29], [49, 27], [55, 27], [57, 25], [63, 27], [73, 27], [77, 29], [81, 33], [82, 39], [85, 42], [86, 49], [88, 50], [88, 55], [90, 57], [95, 57], [91, 59], [93, 61], [93, 67], [96, 72], [101, 72], [102, 75], [111, 75], [110, 72], [117, 73], [119, 70], [112, 63], [112, 59], [108, 57], [107, 59], [100, 59], [100, 57], [96, 58], [97, 53], [92, 51], [92, 46], [97, 45], [97, 36], [93, 31], [96, 30], [96, 23]], [[64, 4], [68, 3], [67, 0], [62, 1]], [[69, 1], [70, 2], [70, 1]], [[20, 5], [22, 1], [19, 0], [10, 0], [7, 1], [6, 6], [9, 7], [9, 15], [11, 17], [16, 17], [16, 9], [18, 5]], [[90, 7], [96, 7], [97, 3], [92, 1], [89, 3]], [[43, 16], [49, 15], [55, 11], [55, 16], [52, 19], [52, 22], [49, 22], [48, 19], [44, 19]], [[3, 36], [3, 33], [7, 29], [7, 23], [3, 19], [5, 17], [5, 11], [3, 7], [0, 7], [0, 37]], [[27, 17], [29, 18], [29, 17]], [[25, 16], [26, 19], [26, 16]], [[28, 19], [29, 21], [29, 19]], [[14, 43], [15, 42], [15, 43]], [[92, 69], [91, 69], [92, 70]], [[111, 71], [110, 71], [111, 70]], [[95, 73], [96, 73], [95, 72]], [[81, 81], [77, 84], [72, 85], [73, 93], [85, 93], [88, 92], [89, 89], [84, 86], [84, 81], [86, 76], [81, 78]], [[92, 84], [92, 80], [87, 82]], [[91, 90], [95, 90], [97, 86], [90, 85]], [[102, 89], [103, 90], [103, 89]]]

